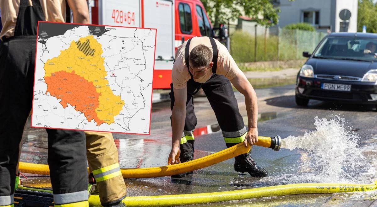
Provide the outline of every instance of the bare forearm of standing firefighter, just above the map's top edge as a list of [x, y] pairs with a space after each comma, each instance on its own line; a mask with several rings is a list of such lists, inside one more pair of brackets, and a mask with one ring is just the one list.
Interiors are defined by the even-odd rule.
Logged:
[[89, 10], [86, 0], [67, 0], [73, 12], [73, 22], [90, 24]]

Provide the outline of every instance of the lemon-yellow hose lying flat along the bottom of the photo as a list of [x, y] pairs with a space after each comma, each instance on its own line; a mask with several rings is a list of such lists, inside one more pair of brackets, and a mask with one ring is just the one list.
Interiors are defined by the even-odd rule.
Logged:
[[[123, 200], [123, 202], [127, 206], [155, 207], [224, 202], [250, 198], [262, 198], [269, 196], [297, 195], [310, 193], [357, 192], [368, 190], [377, 190], [377, 181], [375, 181], [374, 184], [299, 183], [211, 193], [193, 193], [161, 196], [129, 196], [126, 197]], [[89, 206], [102, 206], [99, 196], [91, 195], [89, 197]]]

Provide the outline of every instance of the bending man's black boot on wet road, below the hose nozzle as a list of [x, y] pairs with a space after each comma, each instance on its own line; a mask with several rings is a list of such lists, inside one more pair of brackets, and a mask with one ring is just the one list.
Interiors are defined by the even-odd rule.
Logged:
[[247, 172], [251, 177], [262, 178], [268, 175], [267, 170], [257, 166], [257, 163], [251, 158], [250, 153], [238, 155], [234, 157], [234, 170], [237, 172]]

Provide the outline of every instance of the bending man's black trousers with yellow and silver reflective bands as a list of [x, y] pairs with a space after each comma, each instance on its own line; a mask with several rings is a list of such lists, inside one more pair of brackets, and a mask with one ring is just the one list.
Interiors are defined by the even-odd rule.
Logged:
[[[215, 112], [216, 119], [222, 130], [222, 135], [227, 147], [243, 142], [247, 133], [229, 79], [217, 74], [213, 74], [211, 78], [203, 84], [199, 84], [198, 82], [193, 81], [193, 79], [190, 79], [187, 81], [186, 117], [180, 145], [181, 155], [179, 158], [182, 162], [193, 160], [194, 158], [195, 138], [193, 131], [198, 123], [198, 119], [196, 119], [194, 112], [193, 92], [198, 89], [198, 87], [203, 89], [213, 111]], [[170, 88], [170, 107], [173, 110], [173, 84], [170, 84]]]

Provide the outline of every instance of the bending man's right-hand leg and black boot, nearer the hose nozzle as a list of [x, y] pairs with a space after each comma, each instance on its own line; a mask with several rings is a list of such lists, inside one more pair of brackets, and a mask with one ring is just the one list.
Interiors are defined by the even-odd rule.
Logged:
[[[215, 111], [227, 147], [244, 142], [247, 128], [239, 113], [230, 81], [225, 76], [214, 75], [202, 85], [202, 88]], [[248, 172], [253, 177], [267, 176], [267, 170], [257, 166], [250, 153], [235, 157], [234, 170]]]

